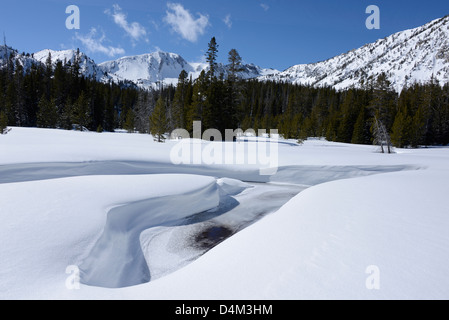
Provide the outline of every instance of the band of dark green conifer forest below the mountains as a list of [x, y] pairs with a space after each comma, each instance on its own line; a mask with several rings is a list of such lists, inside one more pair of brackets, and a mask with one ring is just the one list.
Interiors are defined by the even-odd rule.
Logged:
[[6, 126], [151, 133], [193, 121], [202, 129], [278, 129], [286, 139], [326, 137], [356, 144], [378, 142], [380, 127], [397, 147], [449, 144], [449, 85], [435, 79], [400, 93], [387, 76], [360, 88], [335, 90], [291, 83], [242, 80], [242, 58], [228, 53], [228, 73], [217, 74], [219, 46], [208, 44], [209, 68], [193, 80], [182, 71], [176, 86], [142, 90], [126, 83], [100, 83], [80, 75], [79, 61], [23, 67], [10, 57], [0, 69], [0, 129]]

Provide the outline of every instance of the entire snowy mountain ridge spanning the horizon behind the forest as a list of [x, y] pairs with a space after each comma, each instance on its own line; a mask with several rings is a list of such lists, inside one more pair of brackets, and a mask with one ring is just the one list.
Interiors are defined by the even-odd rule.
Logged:
[[[10, 47], [0, 46], [0, 66], [5, 65], [5, 52], [8, 50], [15, 53], [15, 59], [24, 69], [30, 66], [32, 59], [44, 64], [48, 54], [51, 54], [54, 65], [57, 60], [73, 63], [76, 54], [75, 50], [45, 49], [29, 57]], [[133, 83], [143, 89], [156, 89], [161, 83], [176, 85], [182, 70], [196, 79], [201, 71], [208, 69], [207, 63], [187, 62], [179, 54], [164, 51], [124, 56], [99, 64], [80, 52], [79, 62], [86, 77], [102, 82]], [[298, 64], [284, 71], [264, 69], [254, 64], [242, 67], [244, 70], [240, 77], [243, 79], [331, 86], [337, 90], [368, 86], [381, 73], [387, 75], [397, 92], [415, 82], [431, 79], [445, 84], [449, 82], [449, 15], [324, 61]], [[219, 64], [217, 70], [226, 77], [229, 68]]]

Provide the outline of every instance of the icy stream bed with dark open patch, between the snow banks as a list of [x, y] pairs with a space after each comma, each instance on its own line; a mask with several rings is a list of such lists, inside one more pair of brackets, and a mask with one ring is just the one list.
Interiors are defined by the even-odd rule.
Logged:
[[237, 195], [221, 197], [216, 210], [193, 215], [178, 226], [145, 230], [140, 239], [144, 255], [149, 257], [151, 279], [195, 260], [264, 215], [275, 212], [305, 188], [252, 183]]

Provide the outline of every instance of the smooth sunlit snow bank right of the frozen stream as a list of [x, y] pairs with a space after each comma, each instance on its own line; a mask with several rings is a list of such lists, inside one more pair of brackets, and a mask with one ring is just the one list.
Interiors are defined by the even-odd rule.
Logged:
[[448, 179], [413, 171], [309, 188], [154, 285], [195, 284], [160, 296], [185, 299], [447, 299]]

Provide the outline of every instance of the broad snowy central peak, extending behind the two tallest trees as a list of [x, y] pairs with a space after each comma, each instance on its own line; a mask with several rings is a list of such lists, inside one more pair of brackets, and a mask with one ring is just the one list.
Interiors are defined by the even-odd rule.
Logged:
[[[176, 85], [182, 70], [185, 70], [192, 79], [196, 79], [201, 71], [208, 69], [208, 64], [189, 63], [178, 54], [158, 51], [104, 62], [99, 64], [99, 67], [105, 74], [116, 80], [130, 80], [139, 87], [149, 88], [156, 87], [160, 82]], [[254, 64], [246, 64], [242, 67], [240, 76], [244, 79], [279, 72], [274, 69], [263, 69]], [[229, 66], [219, 64], [217, 70], [226, 77]]]

